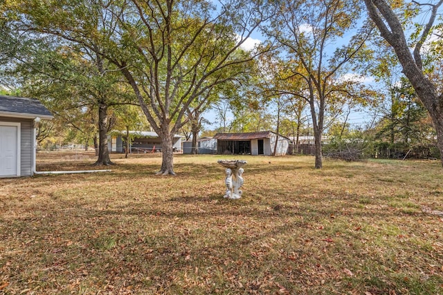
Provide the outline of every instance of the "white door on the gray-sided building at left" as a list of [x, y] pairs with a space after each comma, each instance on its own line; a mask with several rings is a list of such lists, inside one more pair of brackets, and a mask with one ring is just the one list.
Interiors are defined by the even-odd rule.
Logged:
[[19, 131], [20, 123], [0, 123], [0, 176], [20, 175]]

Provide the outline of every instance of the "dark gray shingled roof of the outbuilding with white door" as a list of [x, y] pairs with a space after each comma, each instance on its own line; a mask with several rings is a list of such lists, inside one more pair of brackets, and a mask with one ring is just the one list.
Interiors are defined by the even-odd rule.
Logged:
[[37, 99], [0, 95], [0, 115], [36, 115], [53, 117], [53, 114]]

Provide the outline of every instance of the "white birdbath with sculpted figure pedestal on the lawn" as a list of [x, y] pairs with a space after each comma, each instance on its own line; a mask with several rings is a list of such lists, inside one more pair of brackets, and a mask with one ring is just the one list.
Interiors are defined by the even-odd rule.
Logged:
[[240, 187], [243, 185], [243, 168], [242, 166], [246, 164], [244, 160], [218, 160], [221, 166], [226, 168], [226, 179], [224, 183], [226, 184], [226, 194], [224, 198], [228, 199], [239, 199], [242, 198], [242, 190]]

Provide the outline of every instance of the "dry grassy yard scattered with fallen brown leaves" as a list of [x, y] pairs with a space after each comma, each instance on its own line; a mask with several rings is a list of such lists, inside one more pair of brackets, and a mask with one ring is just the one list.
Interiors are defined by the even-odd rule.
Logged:
[[[37, 169], [97, 169], [43, 153]], [[443, 294], [437, 161], [112, 155], [111, 173], [0, 180], [0, 294]]]

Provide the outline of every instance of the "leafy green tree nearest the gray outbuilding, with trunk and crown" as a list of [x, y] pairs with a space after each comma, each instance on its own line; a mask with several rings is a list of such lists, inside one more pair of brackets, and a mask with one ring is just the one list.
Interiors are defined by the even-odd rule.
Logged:
[[[51, 34], [48, 29], [51, 24], [62, 30], [81, 21], [69, 11], [57, 10], [64, 4], [39, 1], [0, 3], [0, 59], [6, 57], [8, 60], [8, 69], [2, 71], [0, 79], [19, 77], [19, 87], [24, 93], [41, 99], [62, 122], [81, 133], [93, 132], [82, 120], [89, 117], [89, 121], [97, 125], [99, 135], [98, 160], [94, 164], [113, 164], [107, 150], [107, 133], [115, 118], [108, 112], [119, 104], [133, 103], [134, 95], [127, 95], [122, 86], [123, 77], [116, 75], [116, 66], [98, 53], [100, 42], [91, 39], [86, 46]], [[100, 23], [93, 21], [91, 11], [83, 11], [83, 14], [83, 17], [90, 17], [86, 24], [91, 32], [100, 27]], [[93, 110], [96, 116], [85, 115]], [[95, 135], [87, 137], [96, 141]]]

